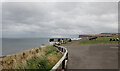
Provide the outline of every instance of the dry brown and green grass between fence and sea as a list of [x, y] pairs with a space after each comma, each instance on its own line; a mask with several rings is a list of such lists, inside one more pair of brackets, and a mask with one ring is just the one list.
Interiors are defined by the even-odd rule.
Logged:
[[43, 69], [50, 70], [62, 57], [53, 46], [26, 50], [19, 54], [2, 58], [2, 69]]

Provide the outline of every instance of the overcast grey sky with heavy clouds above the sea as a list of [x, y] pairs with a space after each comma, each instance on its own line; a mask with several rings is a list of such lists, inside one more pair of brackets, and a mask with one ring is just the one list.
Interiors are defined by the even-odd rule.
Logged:
[[3, 37], [73, 37], [118, 32], [117, 2], [3, 3]]

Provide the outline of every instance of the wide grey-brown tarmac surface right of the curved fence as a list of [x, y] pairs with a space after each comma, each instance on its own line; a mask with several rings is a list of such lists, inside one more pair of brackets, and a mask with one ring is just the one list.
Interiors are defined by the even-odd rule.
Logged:
[[69, 53], [68, 69], [117, 69], [117, 44], [65, 44]]

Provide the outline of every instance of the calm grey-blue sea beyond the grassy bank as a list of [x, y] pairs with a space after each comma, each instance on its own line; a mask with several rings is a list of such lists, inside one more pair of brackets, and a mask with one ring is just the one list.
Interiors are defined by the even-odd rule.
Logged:
[[2, 38], [2, 56], [49, 44], [49, 38]]

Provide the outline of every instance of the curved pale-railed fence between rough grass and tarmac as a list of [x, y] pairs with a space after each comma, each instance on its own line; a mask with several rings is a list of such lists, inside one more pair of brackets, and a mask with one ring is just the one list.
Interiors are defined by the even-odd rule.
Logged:
[[56, 71], [60, 67], [60, 65], [62, 65], [62, 70], [65, 70], [68, 61], [68, 51], [63, 46], [54, 46], [63, 54], [63, 57], [57, 62], [57, 64], [51, 69], [51, 71]]

